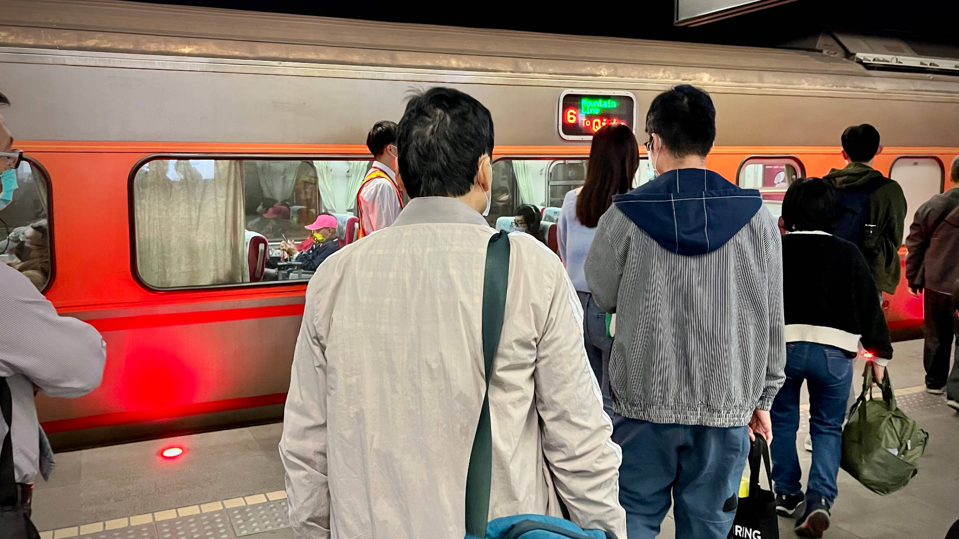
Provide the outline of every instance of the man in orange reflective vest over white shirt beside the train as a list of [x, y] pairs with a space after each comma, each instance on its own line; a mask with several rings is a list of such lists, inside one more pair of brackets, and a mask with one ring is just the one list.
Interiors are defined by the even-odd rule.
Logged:
[[386, 120], [377, 122], [366, 135], [366, 148], [373, 154], [370, 167], [357, 192], [357, 213], [363, 238], [386, 228], [403, 209], [403, 193], [396, 177], [396, 124]]

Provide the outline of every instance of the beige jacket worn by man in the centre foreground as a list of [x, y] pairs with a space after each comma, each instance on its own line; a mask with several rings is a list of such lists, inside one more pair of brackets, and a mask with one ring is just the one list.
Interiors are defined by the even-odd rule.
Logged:
[[[280, 453], [299, 538], [458, 539], [482, 404], [493, 230], [456, 199], [413, 199], [307, 287]], [[491, 519], [557, 514], [625, 538], [620, 448], [559, 259], [513, 233], [489, 400]]]

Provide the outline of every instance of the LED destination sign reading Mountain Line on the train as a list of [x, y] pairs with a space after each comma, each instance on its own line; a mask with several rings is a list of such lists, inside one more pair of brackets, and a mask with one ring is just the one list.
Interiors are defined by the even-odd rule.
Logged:
[[636, 122], [636, 98], [628, 92], [566, 90], [559, 100], [559, 134], [567, 140], [589, 140], [609, 125], [633, 129]]

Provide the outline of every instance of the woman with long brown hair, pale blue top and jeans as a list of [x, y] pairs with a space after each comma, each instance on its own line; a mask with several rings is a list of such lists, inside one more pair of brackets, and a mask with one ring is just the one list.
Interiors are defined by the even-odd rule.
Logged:
[[586, 354], [602, 388], [603, 407], [610, 416], [613, 401], [609, 387], [609, 354], [613, 341], [606, 335], [606, 313], [596, 306], [586, 284], [583, 264], [593, 244], [599, 218], [613, 204], [614, 196], [632, 188], [633, 176], [639, 166], [640, 149], [632, 129], [614, 124], [596, 131], [586, 168], [586, 182], [566, 194], [557, 223], [559, 256], [583, 304]]

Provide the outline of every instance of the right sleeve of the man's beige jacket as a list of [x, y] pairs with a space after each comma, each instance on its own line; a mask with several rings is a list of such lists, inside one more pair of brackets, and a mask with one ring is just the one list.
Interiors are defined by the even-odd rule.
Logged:
[[542, 338], [536, 347], [536, 410], [543, 453], [556, 490], [580, 527], [626, 536], [620, 505], [620, 447], [583, 347], [583, 314], [573, 285], [557, 264]]

